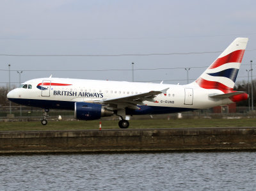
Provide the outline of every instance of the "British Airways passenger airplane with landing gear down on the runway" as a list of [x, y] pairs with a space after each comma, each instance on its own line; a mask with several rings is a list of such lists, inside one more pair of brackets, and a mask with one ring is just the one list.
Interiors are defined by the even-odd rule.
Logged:
[[44, 109], [68, 109], [80, 120], [119, 116], [120, 128], [128, 128], [125, 116], [168, 114], [207, 109], [248, 98], [234, 91], [248, 38], [236, 38], [198, 79], [186, 85], [45, 77], [22, 83], [7, 95], [12, 102]]

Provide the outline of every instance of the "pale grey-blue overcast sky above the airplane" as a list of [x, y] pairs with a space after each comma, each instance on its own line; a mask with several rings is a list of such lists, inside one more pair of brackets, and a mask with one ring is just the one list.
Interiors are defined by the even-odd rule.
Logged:
[[[0, 54], [83, 56], [0, 56], [0, 86], [8, 82], [8, 64], [18, 86], [17, 71], [22, 82], [50, 75], [131, 81], [132, 62], [135, 81], [186, 84], [184, 68], [192, 67], [192, 82], [237, 37], [249, 38], [237, 78], [247, 80], [250, 60], [256, 76], [255, 8], [246, 0], [2, 0]], [[211, 53], [136, 56], [188, 52]], [[120, 54], [133, 56], [111, 56]]]

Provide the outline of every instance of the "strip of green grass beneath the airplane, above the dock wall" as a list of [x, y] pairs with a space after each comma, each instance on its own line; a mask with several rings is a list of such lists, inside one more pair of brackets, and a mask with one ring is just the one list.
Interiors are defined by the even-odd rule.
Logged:
[[[256, 118], [244, 119], [145, 119], [131, 120], [129, 128], [256, 126]], [[1, 130], [86, 130], [99, 129], [99, 121], [0, 122]], [[102, 130], [119, 129], [118, 121], [102, 121]]]

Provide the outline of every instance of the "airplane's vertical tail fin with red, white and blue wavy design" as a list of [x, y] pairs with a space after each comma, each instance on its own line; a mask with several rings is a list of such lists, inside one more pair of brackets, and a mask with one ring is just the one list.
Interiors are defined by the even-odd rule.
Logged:
[[236, 38], [195, 81], [201, 88], [232, 92], [248, 38]]

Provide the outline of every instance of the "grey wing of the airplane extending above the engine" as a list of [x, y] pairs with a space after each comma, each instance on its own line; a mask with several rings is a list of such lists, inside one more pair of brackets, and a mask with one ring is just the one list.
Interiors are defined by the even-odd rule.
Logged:
[[155, 102], [156, 100], [154, 100], [154, 98], [161, 93], [165, 94], [168, 89], [169, 88], [166, 88], [160, 91], [148, 91], [145, 93], [129, 95], [129, 96], [124, 96], [120, 98], [100, 100], [98, 101], [98, 103], [116, 105], [117, 110], [124, 109], [125, 107], [129, 107], [131, 109], [140, 109], [136, 105], [145, 105], [143, 103], [144, 101]]

